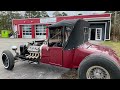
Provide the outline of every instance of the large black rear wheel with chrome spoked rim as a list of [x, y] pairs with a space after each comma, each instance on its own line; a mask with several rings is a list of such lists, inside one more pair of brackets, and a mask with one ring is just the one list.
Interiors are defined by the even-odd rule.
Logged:
[[79, 79], [120, 79], [119, 67], [103, 55], [90, 55], [79, 65]]

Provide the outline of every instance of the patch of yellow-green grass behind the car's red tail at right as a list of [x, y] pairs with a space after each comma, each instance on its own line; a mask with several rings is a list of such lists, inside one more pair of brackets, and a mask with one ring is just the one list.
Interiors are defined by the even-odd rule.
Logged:
[[111, 47], [113, 50], [116, 51], [117, 55], [120, 57], [120, 42], [113, 42], [113, 41], [104, 41], [101, 45]]

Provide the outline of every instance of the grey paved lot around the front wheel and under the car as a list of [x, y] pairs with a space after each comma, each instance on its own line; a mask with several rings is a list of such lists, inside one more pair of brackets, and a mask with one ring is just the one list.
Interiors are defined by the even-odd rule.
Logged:
[[16, 61], [12, 71], [5, 70], [1, 60], [2, 51], [6, 49], [12, 51], [12, 45], [19, 47], [19, 45], [33, 40], [35, 39], [0, 39], [0, 79], [57, 79], [69, 71], [66, 68], [42, 63], [29, 64], [27, 61]]

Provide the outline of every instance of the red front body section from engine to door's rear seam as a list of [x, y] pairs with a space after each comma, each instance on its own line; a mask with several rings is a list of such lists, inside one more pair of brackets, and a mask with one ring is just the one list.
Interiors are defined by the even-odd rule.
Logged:
[[48, 47], [44, 45], [42, 47], [42, 58], [40, 61], [47, 64], [62, 66], [62, 51], [60, 47]]

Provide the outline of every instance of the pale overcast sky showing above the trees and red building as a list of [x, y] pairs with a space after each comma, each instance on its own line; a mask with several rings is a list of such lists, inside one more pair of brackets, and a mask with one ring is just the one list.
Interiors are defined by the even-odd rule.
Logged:
[[[48, 15], [50, 17], [52, 17], [53, 15], [53, 12], [55, 11], [47, 11]], [[88, 14], [93, 14], [93, 13], [98, 13], [98, 14], [101, 14], [101, 13], [104, 13], [105, 11], [60, 11], [61, 13], [62, 12], [66, 12], [69, 16], [72, 16], [72, 15], [78, 15], [79, 13], [83, 14], [83, 15], [88, 15]], [[21, 11], [22, 14], [24, 14], [24, 11]]]

